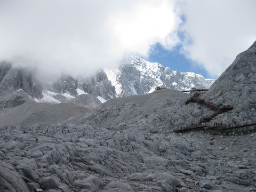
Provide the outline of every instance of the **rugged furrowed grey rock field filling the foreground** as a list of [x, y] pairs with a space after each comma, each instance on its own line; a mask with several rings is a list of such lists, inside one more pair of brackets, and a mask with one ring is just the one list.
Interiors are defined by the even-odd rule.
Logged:
[[[229, 186], [225, 191], [246, 191], [255, 187], [254, 148], [242, 156], [236, 150], [242, 143], [256, 144], [250, 135], [235, 143], [231, 142], [235, 136], [215, 138], [220, 145], [229, 143], [228, 153], [210, 146], [209, 135], [179, 135], [171, 130], [150, 133], [140, 128], [59, 124], [1, 127], [0, 135], [1, 173], [16, 178], [3, 187], [19, 185], [23, 191], [201, 191], [223, 186]], [[241, 171], [239, 161], [249, 169]]]

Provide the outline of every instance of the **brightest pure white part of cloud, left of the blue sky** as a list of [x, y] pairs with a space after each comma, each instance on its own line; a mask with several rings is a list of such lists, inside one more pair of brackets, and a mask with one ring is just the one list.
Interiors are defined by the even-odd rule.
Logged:
[[171, 1], [141, 1], [131, 10], [117, 12], [110, 18], [114, 47], [143, 57], [147, 57], [149, 46], [156, 43], [172, 49], [179, 42], [177, 30], [181, 22]]

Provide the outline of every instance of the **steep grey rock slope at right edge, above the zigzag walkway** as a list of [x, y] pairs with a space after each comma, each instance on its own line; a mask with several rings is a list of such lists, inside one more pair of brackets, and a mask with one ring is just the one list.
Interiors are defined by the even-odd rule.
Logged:
[[229, 113], [213, 121], [256, 122], [256, 42], [237, 55], [234, 62], [213, 83], [205, 98], [234, 106]]

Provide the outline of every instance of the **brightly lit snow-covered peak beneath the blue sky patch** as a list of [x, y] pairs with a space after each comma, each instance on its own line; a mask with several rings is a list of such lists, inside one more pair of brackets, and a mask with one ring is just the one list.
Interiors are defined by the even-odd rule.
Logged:
[[180, 91], [192, 87], [207, 89], [215, 81], [205, 79], [201, 74], [173, 71], [140, 57], [126, 59], [115, 69], [105, 69], [105, 73], [115, 86], [116, 97], [151, 93], [157, 86]]

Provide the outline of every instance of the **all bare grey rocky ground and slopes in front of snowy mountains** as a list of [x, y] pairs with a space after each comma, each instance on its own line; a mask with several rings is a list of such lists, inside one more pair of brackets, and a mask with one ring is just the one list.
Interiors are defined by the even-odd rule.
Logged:
[[[234, 106], [212, 123], [243, 122], [241, 114], [248, 122], [255, 119], [254, 95], [246, 92], [255, 89], [255, 47], [239, 54], [209, 92], [199, 95]], [[239, 70], [244, 62], [247, 68]], [[230, 74], [241, 73], [245, 78], [228, 89]], [[0, 191], [255, 191], [255, 133], [173, 132], [213, 113], [198, 103], [186, 105], [194, 93], [163, 89], [85, 108], [36, 103], [25, 91], [14, 92], [25, 102], [1, 110]], [[75, 103], [86, 94], [79, 96]]]

